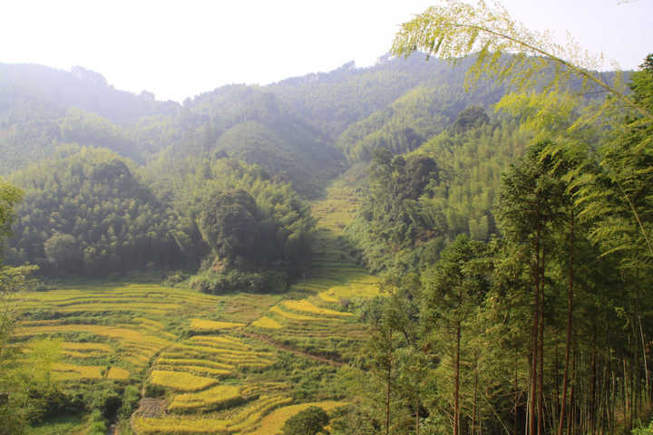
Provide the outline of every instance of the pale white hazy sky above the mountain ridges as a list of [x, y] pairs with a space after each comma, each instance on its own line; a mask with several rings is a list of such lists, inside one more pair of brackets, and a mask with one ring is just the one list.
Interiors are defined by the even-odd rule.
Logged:
[[[437, 0], [4, 0], [0, 62], [102, 73], [118, 89], [181, 101], [386, 53], [399, 24]], [[534, 30], [566, 30], [635, 68], [653, 52], [653, 0], [504, 0]]]

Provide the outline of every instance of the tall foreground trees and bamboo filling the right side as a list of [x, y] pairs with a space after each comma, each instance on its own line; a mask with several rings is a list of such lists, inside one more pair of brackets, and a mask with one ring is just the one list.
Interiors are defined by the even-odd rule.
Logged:
[[[453, 187], [442, 168], [418, 207], [404, 201], [396, 212], [386, 204], [391, 189], [376, 189], [357, 219], [374, 226], [379, 210], [389, 224], [375, 235], [395, 253], [385, 263], [390, 296], [371, 305], [375, 343], [361, 362], [383, 387], [371, 389], [366, 409], [386, 434], [622, 433], [649, 416], [653, 55], [621, 87], [584, 59], [564, 60], [575, 49], [540, 38], [482, 2], [430, 8], [397, 34], [396, 54], [480, 50], [472, 85], [484, 74], [512, 78], [498, 108], [533, 136], [487, 210], [494, 235], [441, 232], [434, 266], [400, 257], [428, 252], [433, 233], [415, 218], [425, 204], [448, 204], [441, 222], [454, 207], [448, 189], [434, 189]], [[573, 81], [609, 97], [581, 102]], [[372, 186], [383, 185], [374, 169], [383, 164], [373, 161]], [[422, 237], [398, 246], [383, 237], [397, 227]]]

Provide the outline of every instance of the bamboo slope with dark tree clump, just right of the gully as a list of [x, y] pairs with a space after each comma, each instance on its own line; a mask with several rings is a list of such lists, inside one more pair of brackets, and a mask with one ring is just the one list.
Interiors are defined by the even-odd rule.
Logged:
[[482, 122], [462, 134], [443, 131], [405, 157], [376, 152], [369, 198], [348, 229], [367, 264], [403, 273], [433, 263], [459, 234], [488, 240], [502, 171], [530, 136], [514, 121]]

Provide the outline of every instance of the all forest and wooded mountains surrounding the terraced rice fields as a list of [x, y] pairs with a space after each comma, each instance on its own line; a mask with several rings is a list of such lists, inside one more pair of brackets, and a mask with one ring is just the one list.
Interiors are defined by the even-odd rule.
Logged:
[[347, 406], [307, 408], [285, 434], [637, 431], [653, 411], [653, 54], [600, 74], [505, 14], [447, 7], [372, 67], [183, 104], [82, 67], [0, 64], [0, 433], [108, 409], [15, 374], [40, 353], [20, 357], [12, 295], [140, 276], [297, 299], [322, 277], [311, 201], [329, 183], [358, 204], [336, 260], [381, 293], [311, 305], [365, 324], [355, 350], [279, 342], [346, 364], [329, 380]]

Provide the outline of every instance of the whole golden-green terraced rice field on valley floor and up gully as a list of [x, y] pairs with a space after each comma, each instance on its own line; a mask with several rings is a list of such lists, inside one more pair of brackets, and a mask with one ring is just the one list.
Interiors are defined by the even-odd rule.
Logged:
[[364, 325], [347, 309], [378, 295], [378, 285], [341, 238], [356, 207], [345, 188], [313, 204], [319, 219], [314, 267], [288, 296], [67, 286], [21, 295], [18, 337], [62, 340], [63, 358], [53, 368], [60, 382], [113, 380], [158, 391], [132, 415], [138, 435], [277, 434], [308, 406], [345, 404], [324, 394], [293, 399], [298, 386], [287, 378], [295, 369], [284, 364], [334, 358], [342, 365], [365, 339]]

